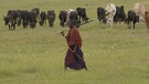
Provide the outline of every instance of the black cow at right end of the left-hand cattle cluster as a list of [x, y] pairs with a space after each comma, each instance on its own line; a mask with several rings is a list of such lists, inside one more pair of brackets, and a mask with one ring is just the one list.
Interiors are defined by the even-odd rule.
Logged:
[[50, 27], [53, 28], [54, 21], [55, 21], [55, 12], [54, 12], [54, 10], [49, 10], [47, 11], [47, 20], [49, 20]]

